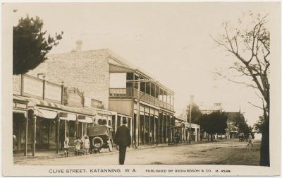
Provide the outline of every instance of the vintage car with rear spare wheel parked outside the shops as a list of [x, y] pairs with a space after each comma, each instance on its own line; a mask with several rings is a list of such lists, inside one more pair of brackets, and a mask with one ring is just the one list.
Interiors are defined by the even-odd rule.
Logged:
[[100, 153], [102, 148], [113, 150], [113, 139], [111, 138], [112, 127], [107, 125], [96, 125], [87, 128], [90, 140], [90, 153], [96, 150]]

